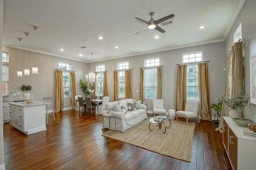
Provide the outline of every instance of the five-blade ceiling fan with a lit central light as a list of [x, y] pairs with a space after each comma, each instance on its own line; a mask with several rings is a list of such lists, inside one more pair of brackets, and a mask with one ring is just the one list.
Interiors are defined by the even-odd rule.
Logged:
[[149, 21], [145, 21], [142, 20], [141, 18], [135, 17], [136, 20], [140, 20], [146, 24], [148, 24], [148, 26], [146, 26], [145, 28], [143, 28], [142, 30], [138, 31], [137, 33], [135, 33], [135, 35], [137, 35], [138, 33], [141, 33], [142, 31], [145, 31], [146, 29], [156, 29], [157, 31], [161, 32], [161, 33], [165, 33], [164, 29], [162, 29], [161, 27], [158, 26], [159, 23], [169, 20], [170, 18], [174, 17], [174, 14], [170, 14], [168, 16], [165, 16], [163, 18], [160, 18], [159, 20], [154, 20], [153, 16], [154, 16], [154, 12], [150, 12], [148, 15], [150, 15], [150, 20]]

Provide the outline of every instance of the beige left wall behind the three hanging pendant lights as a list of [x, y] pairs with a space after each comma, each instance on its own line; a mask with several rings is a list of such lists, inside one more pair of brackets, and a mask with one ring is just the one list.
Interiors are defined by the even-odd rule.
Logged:
[[[18, 41], [18, 40], [17, 40]], [[76, 93], [82, 94], [79, 88], [79, 80], [85, 79], [89, 71], [88, 63], [65, 59], [61, 57], [40, 54], [28, 51], [28, 68], [30, 76], [17, 77], [19, 69], [19, 49], [3, 46], [3, 51], [9, 53], [9, 91], [19, 91], [22, 84], [32, 85], [34, 97], [42, 101], [43, 96], [54, 96], [56, 89], [55, 68], [58, 63], [71, 64], [72, 70], [76, 71]], [[36, 57], [35, 57], [36, 56]], [[32, 66], [38, 67], [38, 74], [32, 74]], [[26, 68], [26, 51], [21, 50], [20, 68]], [[70, 98], [64, 98], [64, 108], [71, 107]]]

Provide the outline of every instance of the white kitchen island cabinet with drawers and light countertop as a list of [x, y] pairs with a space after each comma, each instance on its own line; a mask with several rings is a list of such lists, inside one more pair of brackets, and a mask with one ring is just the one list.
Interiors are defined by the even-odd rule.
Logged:
[[36, 133], [46, 130], [45, 105], [46, 102], [34, 101], [9, 103], [10, 125], [26, 133]]

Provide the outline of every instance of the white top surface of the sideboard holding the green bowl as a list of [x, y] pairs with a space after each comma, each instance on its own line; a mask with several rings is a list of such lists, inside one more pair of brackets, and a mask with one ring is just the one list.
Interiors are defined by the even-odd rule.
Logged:
[[232, 119], [230, 119], [230, 117], [223, 117], [223, 119], [228, 123], [228, 126], [232, 129], [237, 138], [256, 141], [256, 138], [244, 136], [243, 130], [249, 130], [247, 127], [238, 126]]

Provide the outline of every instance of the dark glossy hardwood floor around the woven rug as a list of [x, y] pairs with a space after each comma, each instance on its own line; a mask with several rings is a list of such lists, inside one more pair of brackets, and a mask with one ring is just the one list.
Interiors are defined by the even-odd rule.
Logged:
[[[64, 111], [49, 115], [46, 131], [31, 135], [4, 123], [6, 169], [226, 170], [231, 169], [217, 123], [200, 121], [192, 159], [185, 162], [102, 137], [102, 116]], [[172, 146], [168, 146], [172, 147]]]

